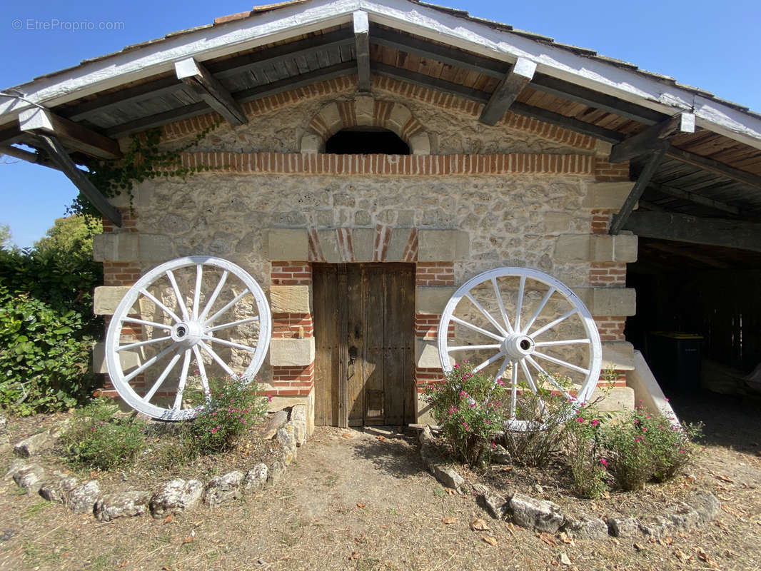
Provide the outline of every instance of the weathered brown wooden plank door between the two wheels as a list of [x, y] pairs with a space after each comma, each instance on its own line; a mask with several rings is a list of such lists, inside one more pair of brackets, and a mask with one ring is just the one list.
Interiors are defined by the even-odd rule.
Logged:
[[414, 422], [415, 266], [314, 264], [315, 423]]

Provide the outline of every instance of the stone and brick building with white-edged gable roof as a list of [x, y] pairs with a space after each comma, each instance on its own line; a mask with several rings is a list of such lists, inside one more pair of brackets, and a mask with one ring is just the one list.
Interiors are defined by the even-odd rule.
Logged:
[[[9, 153], [61, 168], [83, 193], [72, 160], [122, 158], [157, 126], [161, 149], [202, 169], [96, 200], [106, 221], [96, 313], [113, 314], [167, 260], [230, 260], [269, 301], [258, 376], [272, 407], [306, 404], [310, 426], [424, 420], [447, 300], [504, 266], [540, 270], [584, 301], [603, 366], [616, 369], [612, 406], [632, 407], [624, 328], [636, 313], [626, 269], [637, 234], [758, 250], [757, 238], [716, 238], [708, 221], [730, 205], [750, 225], [743, 213], [761, 206], [759, 116], [449, 8], [284, 2], [19, 89], [47, 110], [0, 102], [2, 140], [38, 149]], [[718, 161], [716, 148], [732, 152]], [[658, 219], [675, 193], [669, 221]], [[696, 215], [705, 224], [686, 238], [679, 225]], [[132, 343], [148, 329], [133, 324]], [[110, 351], [96, 348], [100, 372]], [[134, 371], [151, 355], [125, 351], [120, 362]], [[132, 384], [151, 386], [142, 375]]]

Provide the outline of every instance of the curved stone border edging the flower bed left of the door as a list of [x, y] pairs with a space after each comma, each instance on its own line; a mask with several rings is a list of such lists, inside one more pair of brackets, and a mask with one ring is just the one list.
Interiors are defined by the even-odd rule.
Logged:
[[[152, 421], [158, 430], [166, 423]], [[22, 458], [37, 455], [64, 432], [65, 426], [54, 426], [47, 432], [29, 436], [14, 446], [14, 453]], [[5, 473], [5, 480], [13, 479], [27, 493], [39, 493], [49, 502], [59, 502], [75, 513], [91, 513], [102, 522], [116, 518], [132, 517], [150, 512], [156, 519], [193, 509], [200, 503], [209, 509], [265, 487], [275, 486], [282, 479], [288, 465], [296, 459], [297, 448], [307, 439], [307, 418], [303, 404], [279, 410], [269, 418], [264, 440], [272, 438], [282, 445], [283, 454], [269, 466], [260, 462], [245, 474], [231, 471], [213, 477], [206, 483], [199, 480], [174, 478], [158, 486], [154, 491], [128, 490], [121, 493], [101, 493], [97, 480], [78, 483], [75, 477], [59, 471], [48, 476], [45, 469], [35, 462], [18, 458]]]

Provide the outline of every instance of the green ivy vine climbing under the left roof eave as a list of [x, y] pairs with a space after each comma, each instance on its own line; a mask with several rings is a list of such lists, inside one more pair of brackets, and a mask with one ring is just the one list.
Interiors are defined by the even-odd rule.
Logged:
[[[182, 153], [196, 147], [205, 136], [217, 129], [221, 123], [223, 121], [218, 120], [212, 126], [202, 129], [196, 133], [191, 141], [172, 151], [159, 148], [161, 127], [132, 135], [129, 149], [122, 158], [87, 163], [85, 164], [88, 167], [86, 174], [95, 188], [107, 198], [126, 193], [129, 196], [129, 208], [132, 209], [132, 199], [134, 198], [132, 187], [137, 183], [161, 177], [180, 177], [184, 180], [197, 172], [211, 170], [212, 167], [203, 165], [199, 167], [183, 166]], [[74, 199], [69, 211], [73, 214], [100, 216], [100, 213], [81, 193]]]

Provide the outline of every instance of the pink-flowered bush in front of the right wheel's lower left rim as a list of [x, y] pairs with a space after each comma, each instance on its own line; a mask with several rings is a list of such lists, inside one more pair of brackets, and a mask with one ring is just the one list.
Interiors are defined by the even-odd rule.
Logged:
[[461, 362], [444, 375], [441, 384], [425, 388], [436, 423], [459, 457], [471, 466], [488, 464], [493, 435], [501, 431], [503, 381]]

